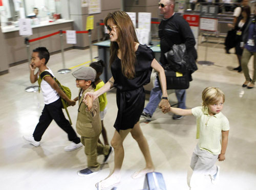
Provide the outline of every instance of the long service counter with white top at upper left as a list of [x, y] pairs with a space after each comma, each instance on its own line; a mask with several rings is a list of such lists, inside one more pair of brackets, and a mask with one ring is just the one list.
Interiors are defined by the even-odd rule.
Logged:
[[[73, 20], [59, 19], [53, 22], [40, 22], [38, 25], [32, 25], [33, 35], [20, 36], [19, 29], [15, 26], [1, 27], [0, 42], [4, 49], [1, 54], [5, 55], [5, 61], [0, 62], [0, 75], [8, 73], [9, 66], [26, 62], [28, 59], [27, 48], [25, 45], [25, 38], [29, 39], [45, 36], [59, 30], [73, 30]], [[62, 38], [63, 48], [67, 49], [73, 47], [73, 44], [67, 44], [66, 38]], [[30, 43], [30, 51], [38, 46], [45, 46], [50, 53], [61, 50], [60, 37], [54, 35], [45, 39], [34, 41]], [[2, 56], [1, 56], [2, 57]]]

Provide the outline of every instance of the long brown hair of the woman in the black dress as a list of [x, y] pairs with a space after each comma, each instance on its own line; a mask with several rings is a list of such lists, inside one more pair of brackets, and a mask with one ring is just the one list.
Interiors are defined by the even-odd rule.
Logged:
[[135, 64], [137, 61], [134, 49], [134, 42], [139, 43], [133, 26], [133, 22], [130, 16], [123, 11], [115, 11], [113, 13], [109, 13], [104, 19], [105, 26], [108, 25], [108, 21], [112, 22], [113, 25], [117, 26], [117, 41], [120, 44], [119, 47], [116, 41], [111, 42], [110, 65], [115, 61], [119, 49], [121, 52], [122, 73], [128, 79], [132, 79], [135, 77]]

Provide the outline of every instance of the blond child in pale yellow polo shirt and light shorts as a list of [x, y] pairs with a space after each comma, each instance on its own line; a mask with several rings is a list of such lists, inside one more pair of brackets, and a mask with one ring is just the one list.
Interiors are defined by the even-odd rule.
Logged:
[[215, 87], [207, 87], [202, 92], [203, 106], [193, 109], [180, 109], [171, 107], [163, 112], [173, 112], [178, 115], [191, 115], [197, 117], [198, 144], [191, 157], [190, 167], [193, 174], [190, 187], [200, 187], [204, 175], [209, 175], [212, 183], [218, 181], [220, 167], [215, 165], [217, 159], [225, 160], [227, 149], [229, 122], [221, 113], [225, 102], [225, 95]]

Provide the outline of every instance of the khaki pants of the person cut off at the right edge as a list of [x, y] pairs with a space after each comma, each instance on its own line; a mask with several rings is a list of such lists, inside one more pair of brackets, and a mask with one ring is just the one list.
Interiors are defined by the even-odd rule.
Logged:
[[243, 55], [242, 55], [242, 60], [241, 60], [241, 66], [244, 72], [244, 76], [245, 79], [247, 81], [250, 81], [250, 75], [249, 75], [249, 69], [248, 69], [248, 62], [251, 58], [251, 56], [254, 56], [253, 58], [253, 68], [254, 68], [254, 72], [253, 72], [253, 79], [252, 79], [252, 83], [255, 83], [256, 80], [256, 52], [249, 52], [247, 49], [244, 49], [243, 51]]

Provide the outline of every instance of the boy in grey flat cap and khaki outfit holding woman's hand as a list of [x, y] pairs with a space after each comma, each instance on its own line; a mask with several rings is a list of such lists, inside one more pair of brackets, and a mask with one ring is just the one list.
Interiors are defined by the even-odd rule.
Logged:
[[76, 87], [80, 88], [78, 97], [74, 99], [74, 101], [78, 101], [79, 105], [76, 130], [81, 135], [81, 143], [84, 146], [88, 164], [88, 168], [78, 171], [77, 174], [79, 176], [89, 176], [100, 170], [97, 155], [103, 154], [103, 162], [105, 163], [109, 160], [113, 148], [109, 145], [98, 143], [99, 135], [102, 131], [99, 101], [95, 100], [92, 105], [88, 106], [82, 102], [86, 92], [94, 92], [94, 88], [96, 87], [94, 84], [96, 70], [92, 67], [81, 67], [73, 72], [72, 75], [76, 78]]

